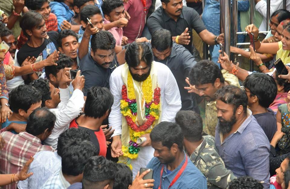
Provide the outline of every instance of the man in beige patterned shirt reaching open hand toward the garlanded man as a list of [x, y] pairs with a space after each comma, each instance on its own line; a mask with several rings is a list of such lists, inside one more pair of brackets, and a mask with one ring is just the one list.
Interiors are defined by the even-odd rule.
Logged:
[[204, 132], [214, 136], [215, 127], [218, 123], [214, 93], [225, 85], [240, 87], [239, 79], [226, 70], [220, 70], [210, 60], [201, 60], [192, 67], [189, 73], [189, 81], [188, 79], [186, 81], [189, 87], [185, 87], [185, 89], [189, 89], [188, 92], [195, 92], [208, 102], [205, 107]]

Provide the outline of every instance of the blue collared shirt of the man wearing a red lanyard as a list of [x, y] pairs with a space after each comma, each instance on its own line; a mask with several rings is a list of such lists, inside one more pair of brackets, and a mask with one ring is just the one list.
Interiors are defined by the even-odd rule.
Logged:
[[[160, 172], [161, 172], [162, 166], [164, 165], [161, 188], [167, 189], [170, 183], [172, 182], [172, 180], [175, 178], [176, 174], [181, 169], [182, 165], [185, 163], [185, 157], [186, 157], [186, 153], [184, 153], [184, 159], [182, 163], [170, 173], [167, 170], [166, 165], [160, 163], [157, 157], [153, 157], [147, 165], [147, 168], [153, 169], [153, 179], [154, 179], [153, 188], [159, 187]], [[172, 185], [172, 187], [170, 187], [170, 189], [177, 189], [177, 188], [206, 189], [208, 188], [205, 176], [202, 175], [202, 173], [195, 167], [195, 165], [190, 161], [189, 157], [187, 158], [188, 158], [187, 166], [185, 167], [184, 171], [182, 172], [178, 180]]]

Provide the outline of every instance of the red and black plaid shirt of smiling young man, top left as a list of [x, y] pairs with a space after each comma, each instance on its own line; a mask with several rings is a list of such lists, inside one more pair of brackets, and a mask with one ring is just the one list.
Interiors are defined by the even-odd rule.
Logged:
[[[45, 21], [47, 32], [49, 31], [56, 31], [57, 32], [57, 18], [56, 15], [53, 13], [49, 14], [48, 19]], [[22, 45], [27, 42], [28, 38], [24, 35], [21, 30], [20, 36], [17, 38], [17, 49], [20, 49]]]

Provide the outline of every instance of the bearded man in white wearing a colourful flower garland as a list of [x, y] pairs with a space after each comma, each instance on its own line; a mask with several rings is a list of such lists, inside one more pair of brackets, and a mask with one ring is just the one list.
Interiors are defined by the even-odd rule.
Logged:
[[[172, 72], [153, 61], [147, 44], [130, 44], [125, 60], [110, 78], [114, 104], [109, 125], [115, 129], [111, 154], [130, 166], [135, 177], [154, 154], [149, 133], [161, 121], [174, 122], [181, 100]], [[144, 142], [138, 145], [138, 138]]]

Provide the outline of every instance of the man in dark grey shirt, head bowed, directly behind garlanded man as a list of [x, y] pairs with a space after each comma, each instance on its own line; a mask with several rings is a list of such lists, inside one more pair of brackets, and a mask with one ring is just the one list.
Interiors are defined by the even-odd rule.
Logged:
[[185, 79], [196, 64], [192, 54], [182, 45], [173, 43], [172, 34], [166, 29], [159, 29], [153, 33], [151, 44], [148, 45], [151, 45], [154, 60], [168, 66], [175, 77], [181, 96], [181, 110], [193, 110], [199, 113], [196, 95], [184, 90], [184, 87], [187, 87]]

